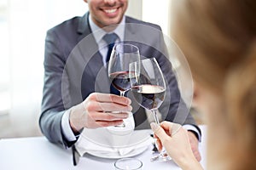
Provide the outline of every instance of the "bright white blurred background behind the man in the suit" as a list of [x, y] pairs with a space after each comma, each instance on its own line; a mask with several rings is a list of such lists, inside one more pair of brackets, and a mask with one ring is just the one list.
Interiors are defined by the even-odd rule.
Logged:
[[[160, 25], [169, 36], [168, 3], [129, 0], [126, 14]], [[0, 0], [0, 139], [42, 135], [38, 117], [46, 31], [87, 10], [83, 0]]]

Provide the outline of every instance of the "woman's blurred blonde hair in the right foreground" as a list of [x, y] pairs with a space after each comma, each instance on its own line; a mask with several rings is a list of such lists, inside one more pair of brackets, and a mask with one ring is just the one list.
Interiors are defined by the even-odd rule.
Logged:
[[176, 10], [172, 37], [195, 80], [218, 94], [224, 105], [214, 116], [228, 137], [220, 139], [223, 136], [214, 129], [214, 134], [209, 133], [209, 139], [219, 140], [209, 141], [214, 148], [209, 148], [209, 158], [222, 161], [209, 160], [208, 169], [211, 162], [226, 163], [228, 169], [256, 169], [256, 1], [177, 0], [172, 4]]

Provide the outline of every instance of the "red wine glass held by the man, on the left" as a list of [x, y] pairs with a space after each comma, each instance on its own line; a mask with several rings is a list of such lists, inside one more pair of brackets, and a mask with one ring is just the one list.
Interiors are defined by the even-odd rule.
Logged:
[[[125, 92], [131, 89], [129, 64], [139, 60], [139, 49], [135, 45], [124, 42], [114, 45], [108, 63], [108, 77], [113, 88], [119, 90], [120, 96], [125, 96]], [[117, 127], [125, 127], [125, 120]]]

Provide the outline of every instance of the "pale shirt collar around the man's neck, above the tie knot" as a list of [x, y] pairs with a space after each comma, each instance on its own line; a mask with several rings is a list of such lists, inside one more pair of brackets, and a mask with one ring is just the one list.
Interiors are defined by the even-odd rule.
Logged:
[[95, 37], [97, 44], [99, 44], [102, 41], [102, 37], [108, 33], [115, 33], [119, 37], [119, 41], [123, 41], [125, 38], [125, 15], [123, 16], [123, 19], [121, 20], [119, 25], [111, 32], [104, 31], [99, 26], [96, 26], [96, 24], [91, 19], [90, 14], [89, 14], [89, 24], [90, 24], [90, 30], [92, 31], [92, 34]]

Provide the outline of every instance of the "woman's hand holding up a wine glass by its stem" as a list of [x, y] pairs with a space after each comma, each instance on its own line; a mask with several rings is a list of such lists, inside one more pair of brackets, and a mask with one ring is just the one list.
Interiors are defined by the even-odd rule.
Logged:
[[160, 150], [164, 146], [172, 160], [183, 169], [202, 169], [201, 164], [196, 161], [190, 147], [189, 136], [186, 129], [172, 122], [161, 122], [160, 126], [152, 122], [151, 128], [157, 139]]

